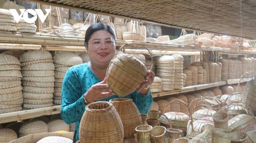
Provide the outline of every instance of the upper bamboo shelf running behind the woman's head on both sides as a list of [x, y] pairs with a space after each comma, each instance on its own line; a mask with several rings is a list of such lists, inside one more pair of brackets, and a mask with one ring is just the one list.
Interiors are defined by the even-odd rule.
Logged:
[[[200, 54], [200, 51], [217, 51], [220, 53], [233, 53], [233, 54], [256, 54], [256, 51], [228, 49], [220, 47], [205, 47], [205, 46], [187, 46], [179, 44], [167, 44], [156, 42], [141, 42], [134, 40], [116, 40], [117, 47], [130, 42], [137, 42], [147, 47], [151, 53], [155, 54], [172, 54], [179, 53], [183, 55], [195, 55]], [[57, 36], [47, 34], [25, 34], [25, 33], [0, 33], [1, 49], [38, 49], [41, 46], [43, 50], [55, 50], [55, 51], [84, 51], [84, 38], [79, 36]], [[10, 43], [16, 43], [17, 45], [33, 45], [34, 47], [27, 46], [8, 46]], [[37, 45], [37, 46], [36, 46]], [[148, 53], [148, 51], [141, 45], [127, 45], [125, 49], [130, 52]], [[136, 51], [138, 50], [138, 51]]]

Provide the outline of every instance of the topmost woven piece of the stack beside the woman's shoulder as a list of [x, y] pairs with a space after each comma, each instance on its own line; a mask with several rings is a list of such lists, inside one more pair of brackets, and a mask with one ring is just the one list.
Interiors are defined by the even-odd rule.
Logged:
[[[74, 66], [82, 64], [82, 58], [73, 52], [59, 52], [53, 56], [53, 63]], [[56, 68], [56, 67], [55, 67]]]

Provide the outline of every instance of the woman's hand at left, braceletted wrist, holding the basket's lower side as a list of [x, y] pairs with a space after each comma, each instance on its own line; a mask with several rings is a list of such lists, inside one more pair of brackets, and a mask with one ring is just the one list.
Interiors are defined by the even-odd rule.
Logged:
[[92, 103], [107, 97], [115, 95], [109, 85], [106, 84], [106, 78], [103, 81], [92, 85], [92, 87], [83, 95], [87, 102]]

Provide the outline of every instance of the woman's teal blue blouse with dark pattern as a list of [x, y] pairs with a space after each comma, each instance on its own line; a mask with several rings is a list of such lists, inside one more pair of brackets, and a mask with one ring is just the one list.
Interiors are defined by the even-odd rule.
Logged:
[[[61, 109], [60, 114], [62, 119], [67, 123], [75, 123], [75, 133], [73, 142], [79, 140], [79, 125], [86, 103], [83, 101], [83, 94], [89, 88], [100, 82], [101, 80], [93, 73], [88, 63], [83, 63], [71, 67], [67, 72], [62, 82], [61, 90]], [[113, 98], [120, 98], [113, 95], [101, 101], [109, 101]], [[132, 98], [140, 113], [147, 113], [150, 110], [153, 98], [151, 92], [147, 95], [141, 95], [137, 91], [124, 98]]]

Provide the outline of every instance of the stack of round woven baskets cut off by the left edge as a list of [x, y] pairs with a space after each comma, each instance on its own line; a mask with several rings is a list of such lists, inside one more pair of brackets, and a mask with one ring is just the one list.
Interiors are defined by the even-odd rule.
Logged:
[[7, 54], [0, 54], [0, 61], [0, 113], [22, 110], [20, 62]]

